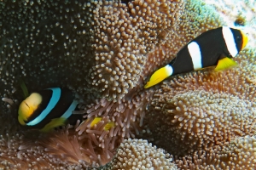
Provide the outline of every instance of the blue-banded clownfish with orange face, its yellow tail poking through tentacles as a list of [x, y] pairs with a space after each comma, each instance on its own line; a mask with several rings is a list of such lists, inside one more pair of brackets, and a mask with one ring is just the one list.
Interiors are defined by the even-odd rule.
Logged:
[[[47, 88], [30, 94], [20, 103], [18, 121], [23, 126], [49, 132], [54, 127], [63, 126], [67, 122], [74, 124], [76, 120], [82, 119], [81, 114], [73, 114], [73, 111], [78, 111], [78, 104], [68, 88]], [[90, 126], [101, 120], [101, 117], [96, 117]], [[111, 127], [113, 122], [109, 122], [104, 129]]]

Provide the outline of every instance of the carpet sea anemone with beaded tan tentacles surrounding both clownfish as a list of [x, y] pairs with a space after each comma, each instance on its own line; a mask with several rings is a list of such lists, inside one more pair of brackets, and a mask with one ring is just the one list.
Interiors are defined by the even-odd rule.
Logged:
[[[1, 105], [2, 167], [102, 168], [110, 161], [106, 168], [125, 168], [126, 162], [148, 168], [199, 168], [197, 162], [204, 162], [200, 168], [235, 168], [240, 154], [253, 153], [253, 49], [242, 51], [236, 58], [240, 66], [229, 71], [192, 71], [143, 89], [186, 43], [224, 26], [202, 1], [3, 0], [0, 7], [0, 93], [8, 103]], [[84, 118], [47, 134], [20, 127], [20, 79], [31, 92], [71, 88], [79, 100], [75, 113]], [[101, 121], [91, 126], [96, 117]], [[114, 126], [106, 129], [110, 122]], [[239, 150], [239, 144], [245, 147]], [[148, 150], [152, 155], [146, 161], [135, 158]], [[229, 159], [212, 163], [211, 156], [222, 153]], [[131, 159], [122, 158], [125, 154]], [[253, 167], [254, 157], [246, 158], [243, 167]]]

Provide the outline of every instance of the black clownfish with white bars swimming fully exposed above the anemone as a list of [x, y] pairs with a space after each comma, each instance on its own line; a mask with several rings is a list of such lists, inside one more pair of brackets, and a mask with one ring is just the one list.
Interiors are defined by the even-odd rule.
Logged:
[[155, 71], [144, 88], [150, 88], [167, 77], [217, 65], [223, 71], [237, 65], [232, 59], [247, 44], [247, 36], [227, 26], [203, 32], [185, 45], [172, 61]]

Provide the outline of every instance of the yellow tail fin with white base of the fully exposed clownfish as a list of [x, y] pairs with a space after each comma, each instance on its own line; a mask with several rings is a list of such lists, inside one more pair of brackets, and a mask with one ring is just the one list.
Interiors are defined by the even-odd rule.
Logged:
[[165, 80], [167, 77], [170, 77], [171, 75], [172, 75], [172, 66], [166, 65], [165, 67], [162, 67], [159, 70], [154, 72], [154, 74], [150, 77], [149, 81], [144, 86], [144, 88], [150, 88], [155, 84], [162, 82], [163, 80]]

